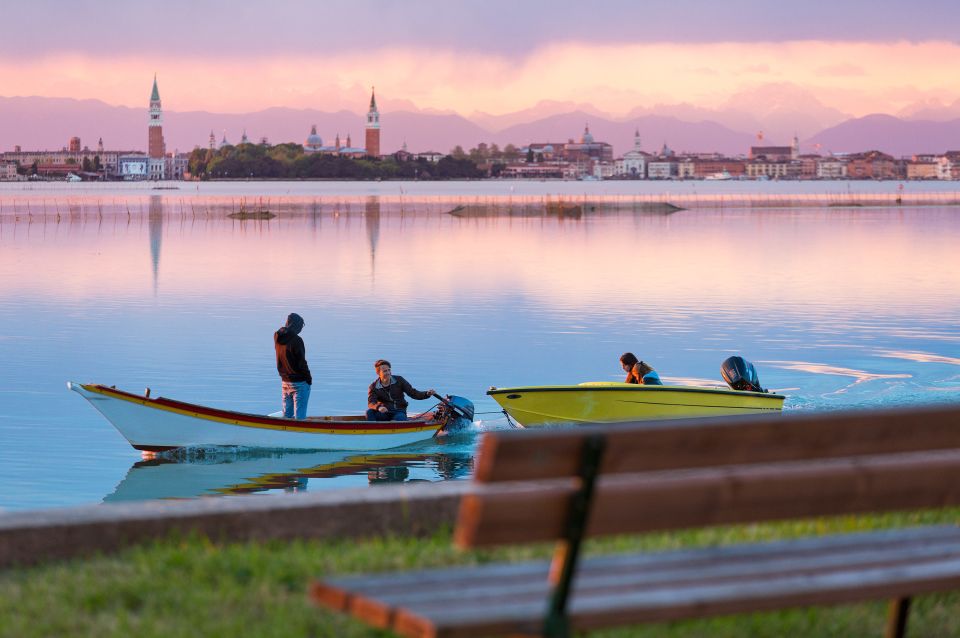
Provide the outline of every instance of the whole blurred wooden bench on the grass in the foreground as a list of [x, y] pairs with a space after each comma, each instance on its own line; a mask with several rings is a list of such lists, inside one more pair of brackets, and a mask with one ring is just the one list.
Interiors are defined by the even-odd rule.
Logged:
[[960, 589], [952, 525], [578, 560], [586, 537], [960, 504], [960, 409], [484, 435], [465, 548], [558, 541], [552, 563], [331, 578], [315, 601], [406, 636], [549, 635]]

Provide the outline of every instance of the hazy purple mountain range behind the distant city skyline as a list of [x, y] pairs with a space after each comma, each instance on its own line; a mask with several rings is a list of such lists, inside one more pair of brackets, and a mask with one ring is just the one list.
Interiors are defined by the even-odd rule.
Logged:
[[[790, 99], [778, 93], [767, 99], [761, 113], [747, 110], [749, 95], [731, 99], [724, 108], [692, 105], [658, 105], [634, 109], [614, 117], [586, 103], [542, 102], [536, 107], [506, 115], [473, 113], [468, 117], [449, 112], [417, 110], [381, 113], [381, 152], [393, 152], [404, 143], [412, 152], [449, 152], [454, 146], [469, 149], [480, 142], [501, 147], [512, 143], [579, 140], [585, 127], [598, 141], [613, 145], [620, 155], [634, 145], [639, 132], [642, 149], [656, 152], [666, 144], [675, 151], [720, 152], [740, 155], [753, 144], [788, 145], [791, 122], [812, 130], [801, 136], [803, 152], [855, 152], [877, 149], [894, 156], [942, 153], [960, 149], [960, 116], [949, 118], [954, 105], [937, 110], [943, 119], [916, 119], [931, 109], [918, 107], [913, 114], [868, 115], [850, 118], [804, 95]], [[786, 92], [789, 97], [789, 91]], [[757, 98], [758, 103], [762, 100]], [[761, 96], [762, 97], [762, 96]], [[768, 98], [770, 96], [767, 96]], [[217, 143], [226, 136], [237, 143], [244, 131], [251, 141], [267, 137], [271, 143], [303, 142], [310, 127], [332, 144], [339, 134], [354, 146], [363, 146], [364, 116], [351, 111], [268, 108], [253, 113], [164, 111], [167, 150], [189, 151], [206, 147], [211, 131]], [[20, 145], [25, 150], [56, 150], [79, 136], [84, 146], [95, 148], [103, 138], [108, 149], [144, 150], [147, 146], [146, 108], [113, 106], [99, 100], [48, 97], [0, 97], [0, 150]], [[824, 125], [828, 124], [828, 125]], [[801, 126], [802, 125], [802, 126]], [[821, 128], [822, 126], [822, 128]], [[763, 141], [757, 132], [764, 130]]]

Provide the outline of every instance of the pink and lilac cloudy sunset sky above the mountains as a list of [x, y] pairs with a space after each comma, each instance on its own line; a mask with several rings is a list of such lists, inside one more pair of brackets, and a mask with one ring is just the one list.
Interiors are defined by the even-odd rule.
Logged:
[[957, 24], [956, 0], [33, 0], [4, 6], [0, 96], [142, 107], [157, 73], [177, 111], [362, 111], [376, 86], [385, 109], [466, 116], [798, 94], [899, 114], [960, 109]]

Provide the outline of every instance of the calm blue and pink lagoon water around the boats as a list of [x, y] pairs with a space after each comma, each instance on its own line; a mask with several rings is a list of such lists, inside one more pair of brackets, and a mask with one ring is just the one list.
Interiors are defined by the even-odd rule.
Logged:
[[[960, 400], [958, 208], [458, 218], [447, 199], [482, 187], [406, 203], [396, 184], [190, 188], [0, 189], [0, 508], [469, 476], [476, 434], [141, 461], [65, 387], [273, 412], [272, 333], [291, 311], [312, 414], [361, 412], [385, 357], [471, 398], [477, 431], [506, 427], [489, 386], [616, 380], [625, 350], [667, 383], [718, 383], [742, 354], [788, 410]], [[226, 217], [257, 188], [280, 217]]]

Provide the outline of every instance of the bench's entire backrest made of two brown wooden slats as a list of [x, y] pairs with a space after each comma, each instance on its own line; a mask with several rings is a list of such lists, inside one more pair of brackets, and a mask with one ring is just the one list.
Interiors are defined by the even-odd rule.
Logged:
[[960, 505], [960, 407], [487, 433], [455, 538], [562, 539], [602, 448], [585, 536]]

